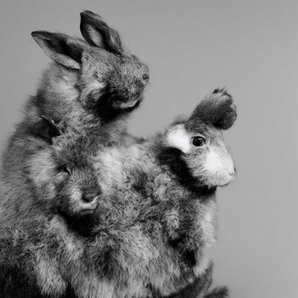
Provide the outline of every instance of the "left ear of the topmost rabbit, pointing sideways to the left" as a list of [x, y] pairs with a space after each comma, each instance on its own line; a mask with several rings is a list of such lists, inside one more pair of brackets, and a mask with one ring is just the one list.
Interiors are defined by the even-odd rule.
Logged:
[[80, 69], [82, 53], [87, 47], [83, 40], [48, 31], [34, 31], [31, 35], [52, 60], [66, 67]]

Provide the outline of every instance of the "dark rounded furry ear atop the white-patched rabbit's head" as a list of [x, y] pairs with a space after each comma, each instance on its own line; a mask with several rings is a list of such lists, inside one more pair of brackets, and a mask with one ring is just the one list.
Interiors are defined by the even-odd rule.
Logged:
[[226, 89], [215, 89], [195, 108], [190, 121], [200, 121], [218, 129], [229, 129], [237, 119], [236, 106]]

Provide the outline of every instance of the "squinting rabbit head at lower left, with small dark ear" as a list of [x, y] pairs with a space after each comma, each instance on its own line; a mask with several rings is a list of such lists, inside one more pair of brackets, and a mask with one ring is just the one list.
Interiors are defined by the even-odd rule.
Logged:
[[42, 137], [47, 136], [52, 145], [38, 151], [29, 161], [38, 201], [70, 218], [94, 213], [101, 188], [88, 139], [71, 133], [60, 136], [51, 120], [42, 117], [41, 121], [49, 130], [46, 134], [43, 127]]

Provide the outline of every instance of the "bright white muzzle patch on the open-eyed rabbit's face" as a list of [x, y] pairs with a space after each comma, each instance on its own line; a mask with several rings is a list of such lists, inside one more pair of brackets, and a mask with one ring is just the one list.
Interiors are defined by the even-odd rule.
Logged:
[[235, 174], [234, 162], [228, 152], [217, 152], [210, 150], [206, 156], [204, 170], [207, 174], [206, 180], [213, 186], [222, 186], [233, 180]]

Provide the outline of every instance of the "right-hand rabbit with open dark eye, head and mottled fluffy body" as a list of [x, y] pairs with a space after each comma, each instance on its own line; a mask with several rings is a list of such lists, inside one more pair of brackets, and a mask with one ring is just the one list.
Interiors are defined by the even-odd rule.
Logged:
[[[86, 245], [88, 266], [98, 264], [98, 272], [106, 271], [118, 288], [119, 272], [134, 268], [125, 284], [131, 283], [136, 297], [146, 291], [149, 297], [170, 295], [204, 274], [217, 240], [216, 188], [235, 174], [222, 130], [236, 118], [232, 97], [216, 89], [165, 134], [128, 147], [103, 148], [97, 156], [100, 184], [111, 211], [96, 230], [102, 239], [98, 250], [108, 251], [110, 265], [107, 270], [105, 255]], [[120, 290], [115, 297], [122, 297]]]

